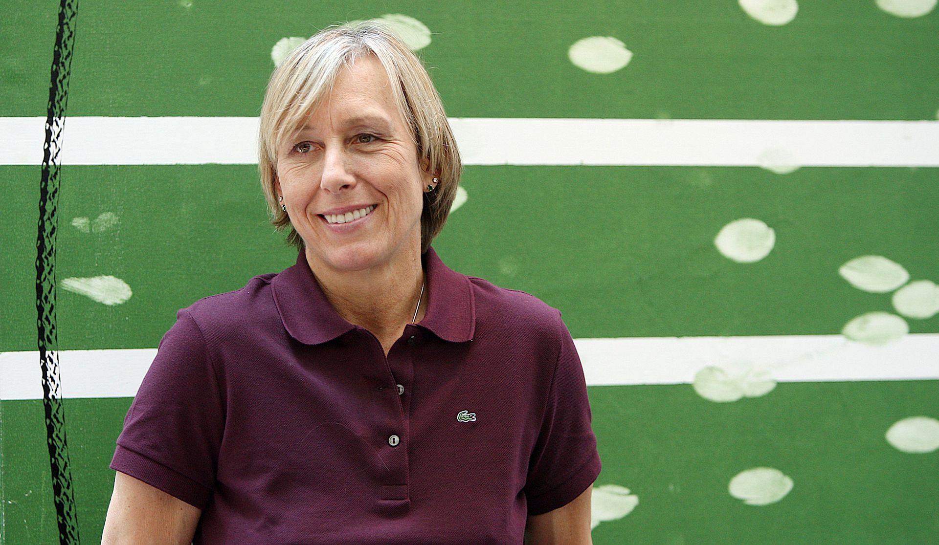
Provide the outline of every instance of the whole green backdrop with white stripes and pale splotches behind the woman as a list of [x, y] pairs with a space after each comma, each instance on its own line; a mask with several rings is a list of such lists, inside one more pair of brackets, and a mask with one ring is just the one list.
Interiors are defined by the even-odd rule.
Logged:
[[934, 542], [935, 4], [81, 4], [53, 284], [75, 537], [36, 326], [59, 7], [9, 4], [4, 542], [99, 540], [115, 437], [176, 310], [293, 263], [252, 164], [270, 70], [376, 17], [430, 68], [469, 164], [435, 248], [577, 340], [596, 543]]

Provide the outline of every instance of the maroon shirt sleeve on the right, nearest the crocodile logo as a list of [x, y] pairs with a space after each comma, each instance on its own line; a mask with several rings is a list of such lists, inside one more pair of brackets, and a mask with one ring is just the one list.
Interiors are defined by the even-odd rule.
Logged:
[[561, 329], [561, 348], [525, 484], [530, 515], [567, 505], [600, 474], [583, 368], [563, 323]]

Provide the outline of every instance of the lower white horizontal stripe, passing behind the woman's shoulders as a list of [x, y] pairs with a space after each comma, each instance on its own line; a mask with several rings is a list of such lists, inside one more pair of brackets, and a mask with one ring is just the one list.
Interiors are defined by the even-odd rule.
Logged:
[[[577, 339], [588, 386], [689, 384], [711, 365], [749, 362], [779, 382], [939, 380], [939, 334], [870, 347], [840, 335]], [[156, 349], [59, 353], [65, 398], [137, 392]], [[42, 398], [38, 352], [0, 354], [0, 399]]]

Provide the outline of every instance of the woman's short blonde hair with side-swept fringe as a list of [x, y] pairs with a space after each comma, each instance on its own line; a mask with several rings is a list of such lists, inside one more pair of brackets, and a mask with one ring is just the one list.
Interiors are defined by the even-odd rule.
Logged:
[[287, 55], [271, 74], [261, 107], [258, 169], [270, 222], [279, 231], [288, 228], [287, 242], [298, 249], [303, 248], [303, 240], [281, 209], [274, 190], [277, 150], [316, 111], [338, 73], [367, 55], [377, 58], [393, 83], [394, 101], [411, 129], [419, 164], [439, 179], [437, 189], [423, 194], [422, 252], [430, 247], [450, 214], [463, 166], [443, 103], [427, 70], [408, 46], [382, 23], [366, 21], [332, 26]]

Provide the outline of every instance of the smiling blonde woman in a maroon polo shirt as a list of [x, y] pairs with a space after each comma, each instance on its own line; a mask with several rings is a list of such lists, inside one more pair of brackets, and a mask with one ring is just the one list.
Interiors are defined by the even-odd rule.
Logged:
[[321, 32], [259, 166], [297, 264], [180, 310], [112, 468], [105, 543], [589, 543], [600, 470], [560, 312], [443, 265], [461, 166], [421, 62]]

